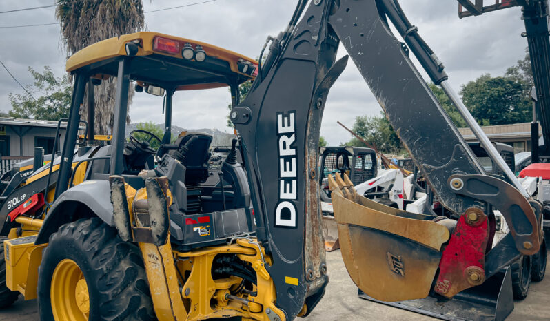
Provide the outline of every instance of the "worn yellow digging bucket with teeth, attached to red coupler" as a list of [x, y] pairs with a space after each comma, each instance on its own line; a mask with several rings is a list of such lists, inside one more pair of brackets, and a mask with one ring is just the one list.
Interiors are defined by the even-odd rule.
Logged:
[[342, 257], [359, 289], [389, 302], [427, 297], [449, 229], [360, 196], [347, 176], [329, 176], [329, 186]]

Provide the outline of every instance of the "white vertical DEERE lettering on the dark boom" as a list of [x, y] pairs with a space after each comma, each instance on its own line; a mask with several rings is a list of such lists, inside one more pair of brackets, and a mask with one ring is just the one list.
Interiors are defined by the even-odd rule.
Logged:
[[296, 170], [296, 112], [277, 114], [278, 203], [275, 226], [296, 228], [298, 176]]

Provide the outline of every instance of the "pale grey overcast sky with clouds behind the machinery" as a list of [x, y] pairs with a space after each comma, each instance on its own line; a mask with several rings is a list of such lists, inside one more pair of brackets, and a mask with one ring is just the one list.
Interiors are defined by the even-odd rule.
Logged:
[[[205, 0], [144, 0], [144, 11], [181, 6]], [[489, 1], [485, 1], [489, 3]], [[2, 0], [0, 11], [46, 6], [54, 0]], [[520, 8], [491, 12], [482, 17], [458, 19], [456, 0], [401, 0], [403, 10], [431, 48], [445, 63], [455, 90], [480, 74], [502, 75], [524, 57], [527, 41], [520, 37], [524, 25]], [[296, 0], [216, 0], [185, 8], [145, 13], [147, 30], [212, 43], [252, 58], [258, 56], [268, 34], [276, 35], [287, 24]], [[55, 74], [65, 72], [66, 53], [61, 49], [59, 25], [1, 28], [12, 25], [54, 23], [54, 8], [0, 14], [0, 60], [23, 85], [32, 84], [28, 66]], [[339, 56], [344, 54], [340, 50]], [[0, 66], [0, 110], [11, 109], [8, 93], [23, 90]], [[181, 92], [174, 98], [174, 125], [187, 129], [225, 127], [227, 89]], [[134, 96], [132, 123], [162, 123], [161, 99]], [[353, 63], [332, 87], [323, 116], [321, 135], [339, 145], [350, 135], [336, 121], [351, 127], [356, 116], [376, 115], [381, 108]]]

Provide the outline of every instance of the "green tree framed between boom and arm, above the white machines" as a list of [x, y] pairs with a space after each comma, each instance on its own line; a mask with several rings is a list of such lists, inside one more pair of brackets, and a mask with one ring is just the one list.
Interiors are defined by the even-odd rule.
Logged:
[[[394, 154], [405, 152], [401, 141], [383, 112], [380, 112], [380, 116], [357, 116], [352, 130], [358, 136], [363, 137], [367, 143], [375, 145], [380, 152]], [[355, 137], [345, 145], [367, 147]]]

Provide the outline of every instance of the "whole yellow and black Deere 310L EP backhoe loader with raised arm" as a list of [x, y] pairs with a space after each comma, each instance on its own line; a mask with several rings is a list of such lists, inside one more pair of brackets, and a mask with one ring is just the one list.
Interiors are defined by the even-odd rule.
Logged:
[[[451, 90], [441, 61], [396, 0], [298, 1], [285, 30], [268, 40], [258, 65], [154, 32], [101, 41], [70, 57], [75, 81], [61, 156], [51, 170], [35, 171], [0, 210], [1, 234], [8, 236], [1, 302], [13, 300], [9, 291], [37, 296], [43, 320], [308, 315], [328, 282], [319, 129], [329, 89], [349, 57], [451, 213], [399, 211], [354, 194], [346, 176], [329, 176], [342, 256], [358, 287], [385, 301], [452, 299], [508, 271], [521, 254], [537, 253], [542, 206]], [[349, 57], [336, 61], [340, 43]], [[486, 174], [409, 54], [449, 94], [505, 178]], [[101, 154], [94, 147], [75, 152], [85, 85], [90, 77], [113, 76], [112, 145]], [[238, 83], [254, 76], [239, 101]], [[132, 140], [133, 148], [125, 143], [130, 81], [166, 92], [167, 125], [157, 150], [147, 142], [153, 135]], [[212, 159], [211, 138], [201, 133], [183, 133], [170, 144], [174, 91], [221, 85], [230, 85], [238, 132], [227, 156]], [[33, 185], [40, 177], [50, 183]], [[510, 231], [491, 249], [493, 209]]]

